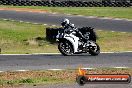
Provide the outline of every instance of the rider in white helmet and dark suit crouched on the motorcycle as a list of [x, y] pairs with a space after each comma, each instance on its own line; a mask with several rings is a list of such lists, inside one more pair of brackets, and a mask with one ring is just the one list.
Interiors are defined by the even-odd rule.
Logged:
[[83, 34], [74, 26], [74, 24], [71, 24], [69, 19], [64, 19], [62, 22], [61, 22], [61, 25], [62, 27], [65, 29], [65, 30], [75, 30], [79, 35], [80, 37], [84, 40], [84, 42], [87, 42], [87, 39], [83, 36]]

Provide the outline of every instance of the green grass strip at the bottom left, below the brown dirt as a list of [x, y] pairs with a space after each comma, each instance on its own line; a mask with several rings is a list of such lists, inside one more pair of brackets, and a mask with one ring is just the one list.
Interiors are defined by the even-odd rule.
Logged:
[[73, 83], [73, 80], [63, 80], [54, 77], [42, 77], [42, 78], [26, 78], [26, 79], [14, 79], [14, 80], [0, 80], [0, 85], [20, 85], [20, 84], [56, 84], [56, 83]]

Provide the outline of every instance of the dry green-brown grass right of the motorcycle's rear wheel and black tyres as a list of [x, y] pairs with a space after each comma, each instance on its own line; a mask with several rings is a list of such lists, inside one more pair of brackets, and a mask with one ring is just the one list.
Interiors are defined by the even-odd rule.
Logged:
[[132, 51], [132, 33], [96, 31], [98, 44], [102, 51], [120, 52]]

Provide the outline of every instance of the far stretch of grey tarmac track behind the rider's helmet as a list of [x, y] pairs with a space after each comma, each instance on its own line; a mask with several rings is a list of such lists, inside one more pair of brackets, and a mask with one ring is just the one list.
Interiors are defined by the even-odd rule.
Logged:
[[8, 10], [1, 10], [0, 18], [51, 25], [60, 25], [62, 19], [69, 18], [70, 21], [78, 27], [91, 26], [101, 30], [132, 32], [132, 21], [127, 20], [100, 19], [90, 18], [87, 16], [73, 16], [64, 14], [22, 11], [20, 12]]

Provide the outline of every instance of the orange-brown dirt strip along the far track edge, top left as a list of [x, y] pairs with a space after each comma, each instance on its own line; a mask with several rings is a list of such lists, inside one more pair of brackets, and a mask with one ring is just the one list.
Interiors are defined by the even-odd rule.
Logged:
[[30, 9], [30, 8], [0, 8], [0, 10], [13, 10], [13, 11], [38, 12], [38, 13], [48, 12], [47, 10]]

